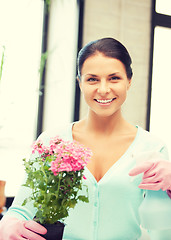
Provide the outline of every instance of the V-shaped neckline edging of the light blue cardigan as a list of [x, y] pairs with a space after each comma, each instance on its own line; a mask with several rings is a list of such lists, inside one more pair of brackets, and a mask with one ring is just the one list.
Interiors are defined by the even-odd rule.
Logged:
[[[71, 123], [71, 135], [70, 135], [70, 139], [73, 141], [73, 135], [72, 135], [72, 128], [74, 126], [75, 122], [72, 122]], [[89, 175], [90, 179], [97, 185], [99, 185], [101, 182], [104, 181], [104, 179], [110, 175], [111, 171], [114, 169], [114, 168], [117, 168], [118, 165], [131, 153], [132, 151], [132, 148], [134, 147], [135, 143], [137, 142], [137, 139], [139, 137], [139, 133], [140, 133], [140, 127], [136, 125], [136, 128], [137, 128], [137, 133], [136, 133], [136, 136], [133, 140], [133, 142], [130, 144], [130, 146], [128, 147], [128, 149], [125, 151], [125, 153], [107, 170], [107, 172], [103, 175], [103, 177], [97, 181], [96, 178], [94, 177], [94, 175], [91, 173], [91, 171], [85, 167], [85, 172]]]

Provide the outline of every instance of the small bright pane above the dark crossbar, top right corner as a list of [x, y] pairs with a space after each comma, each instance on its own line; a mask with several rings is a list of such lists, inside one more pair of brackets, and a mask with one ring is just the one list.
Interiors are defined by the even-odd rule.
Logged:
[[171, 0], [156, 0], [156, 12], [171, 15]]

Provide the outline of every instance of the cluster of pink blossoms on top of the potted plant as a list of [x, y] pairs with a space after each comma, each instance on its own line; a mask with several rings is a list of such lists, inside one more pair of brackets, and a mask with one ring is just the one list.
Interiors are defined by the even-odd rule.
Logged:
[[56, 136], [50, 139], [45, 146], [41, 140], [33, 143], [33, 153], [37, 151], [44, 161], [46, 157], [53, 156], [49, 170], [57, 175], [59, 172], [80, 171], [84, 169], [92, 156], [90, 149], [80, 143], [64, 141]]

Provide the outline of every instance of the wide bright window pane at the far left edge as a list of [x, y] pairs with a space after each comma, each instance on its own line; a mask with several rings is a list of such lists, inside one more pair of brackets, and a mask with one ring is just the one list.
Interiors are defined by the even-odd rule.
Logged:
[[0, 179], [7, 181], [7, 196], [15, 195], [23, 179], [22, 158], [35, 139], [42, 13], [42, 0], [0, 1], [1, 49], [5, 46], [0, 82]]

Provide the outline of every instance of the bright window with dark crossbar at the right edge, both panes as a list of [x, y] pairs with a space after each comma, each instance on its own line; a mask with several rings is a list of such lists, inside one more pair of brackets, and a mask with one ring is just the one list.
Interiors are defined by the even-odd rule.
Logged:
[[[149, 129], [166, 143], [171, 156], [171, 1], [156, 0], [153, 9], [154, 47], [152, 59], [152, 91]], [[155, 4], [154, 4], [155, 5]], [[159, 14], [156, 11], [168, 15]]]

